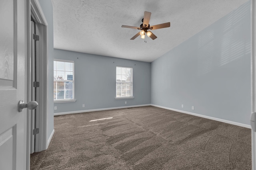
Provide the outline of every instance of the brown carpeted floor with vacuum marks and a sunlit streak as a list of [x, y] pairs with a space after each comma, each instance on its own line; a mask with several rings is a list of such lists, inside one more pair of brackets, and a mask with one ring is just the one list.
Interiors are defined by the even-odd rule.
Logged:
[[61, 115], [54, 129], [48, 149], [31, 154], [31, 170], [252, 167], [250, 129], [153, 106]]

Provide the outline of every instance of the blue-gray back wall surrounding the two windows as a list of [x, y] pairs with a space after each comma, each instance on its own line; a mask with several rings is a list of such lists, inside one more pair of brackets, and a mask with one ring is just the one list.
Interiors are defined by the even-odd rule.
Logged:
[[[55, 103], [54, 113], [150, 104], [151, 63], [58, 49], [54, 49], [54, 59], [74, 61], [76, 99], [76, 102]], [[116, 66], [133, 68], [134, 99], [115, 100]]]

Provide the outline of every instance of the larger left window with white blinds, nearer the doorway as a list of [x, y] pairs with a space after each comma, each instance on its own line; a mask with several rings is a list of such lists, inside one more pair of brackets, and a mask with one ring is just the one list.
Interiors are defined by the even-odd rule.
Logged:
[[54, 102], [74, 100], [74, 61], [54, 60]]

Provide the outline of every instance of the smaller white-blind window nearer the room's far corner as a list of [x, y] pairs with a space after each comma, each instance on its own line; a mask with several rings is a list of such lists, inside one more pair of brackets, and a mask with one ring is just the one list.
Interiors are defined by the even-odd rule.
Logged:
[[133, 98], [132, 67], [116, 66], [116, 98]]

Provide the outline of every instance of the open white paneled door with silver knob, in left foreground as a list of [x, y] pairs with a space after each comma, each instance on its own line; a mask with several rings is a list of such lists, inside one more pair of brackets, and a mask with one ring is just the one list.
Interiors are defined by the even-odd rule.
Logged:
[[0, 0], [0, 170], [26, 169], [26, 0]]

